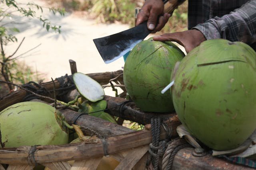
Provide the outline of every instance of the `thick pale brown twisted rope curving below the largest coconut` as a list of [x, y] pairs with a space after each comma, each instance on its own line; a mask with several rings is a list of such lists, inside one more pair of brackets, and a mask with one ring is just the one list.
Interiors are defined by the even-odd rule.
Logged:
[[168, 142], [168, 147], [165, 150], [163, 159], [162, 159], [162, 170], [171, 170], [174, 156], [176, 153], [183, 148], [191, 147], [184, 139], [176, 138]]

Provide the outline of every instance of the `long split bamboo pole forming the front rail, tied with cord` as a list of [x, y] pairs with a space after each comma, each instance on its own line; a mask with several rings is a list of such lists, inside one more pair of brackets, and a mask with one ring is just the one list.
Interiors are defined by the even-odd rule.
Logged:
[[[162, 132], [160, 139], [164, 139], [165, 132]], [[151, 131], [136, 131], [124, 135], [118, 135], [114, 137], [108, 137], [107, 139], [108, 154], [122, 152], [124, 150], [148, 145], [152, 141]], [[49, 163], [60, 162], [68, 160], [84, 160], [89, 158], [97, 158], [104, 155], [103, 144], [101, 140], [98, 143], [83, 144], [78, 143], [76, 145], [65, 146], [46, 149], [48, 146], [44, 146], [44, 150], [37, 150], [34, 154], [29, 154], [29, 150], [26, 151], [9, 151], [0, 150], [0, 163], [4, 164], [30, 164], [32, 163]]]

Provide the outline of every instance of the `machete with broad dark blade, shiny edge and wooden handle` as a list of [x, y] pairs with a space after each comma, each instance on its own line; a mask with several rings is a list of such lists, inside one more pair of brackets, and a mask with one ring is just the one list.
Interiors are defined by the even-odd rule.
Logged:
[[[163, 2], [164, 13], [172, 13], [179, 5], [178, 0], [163, 0]], [[150, 33], [147, 22], [144, 22], [120, 33], [93, 39], [93, 41], [103, 61], [108, 64], [128, 53]]]

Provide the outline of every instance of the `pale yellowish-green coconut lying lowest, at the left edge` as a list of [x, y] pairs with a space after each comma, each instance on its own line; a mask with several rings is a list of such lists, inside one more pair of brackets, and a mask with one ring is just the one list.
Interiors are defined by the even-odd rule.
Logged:
[[68, 134], [55, 119], [55, 108], [42, 102], [21, 102], [0, 112], [4, 147], [61, 145]]

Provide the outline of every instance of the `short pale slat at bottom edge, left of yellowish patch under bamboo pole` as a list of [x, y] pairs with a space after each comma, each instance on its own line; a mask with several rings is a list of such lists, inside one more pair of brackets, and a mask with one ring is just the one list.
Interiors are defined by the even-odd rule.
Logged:
[[75, 161], [70, 170], [96, 170], [102, 157]]

